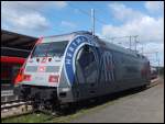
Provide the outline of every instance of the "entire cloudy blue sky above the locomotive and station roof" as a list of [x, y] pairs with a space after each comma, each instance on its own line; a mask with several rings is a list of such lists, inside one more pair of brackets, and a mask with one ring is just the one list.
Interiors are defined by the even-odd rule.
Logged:
[[[90, 9], [95, 9], [97, 35], [139, 35], [144, 52], [158, 52], [161, 65], [164, 65], [162, 1], [2, 1], [1, 8], [2, 29], [37, 37], [90, 31]], [[122, 42], [127, 47], [127, 41], [117, 38], [113, 42]], [[154, 56], [148, 55], [151, 59]], [[156, 63], [153, 60], [152, 64]]]

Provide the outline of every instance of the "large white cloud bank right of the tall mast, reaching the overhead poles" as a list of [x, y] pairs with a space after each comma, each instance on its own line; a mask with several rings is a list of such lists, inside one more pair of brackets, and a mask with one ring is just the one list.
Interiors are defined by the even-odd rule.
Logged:
[[[141, 44], [143, 44], [144, 53], [158, 52], [163, 65], [164, 59], [164, 19], [153, 19], [144, 16], [142, 20], [128, 22], [121, 26], [105, 25], [102, 27], [102, 35], [107, 37], [139, 35], [138, 50], [141, 52]], [[132, 40], [132, 48], [134, 49], [134, 40]], [[116, 38], [113, 43], [121, 43], [122, 46], [129, 47], [129, 38]], [[154, 56], [155, 58], [155, 56]]]

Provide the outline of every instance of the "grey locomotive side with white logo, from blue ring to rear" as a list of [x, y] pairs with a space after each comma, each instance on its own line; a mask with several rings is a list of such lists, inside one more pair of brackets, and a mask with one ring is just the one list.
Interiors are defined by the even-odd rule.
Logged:
[[[100, 49], [99, 94], [118, 92], [148, 83], [146, 71], [150, 66], [147, 65], [148, 61], [146, 58], [132, 56], [106, 47], [101, 47]], [[109, 64], [111, 64], [110, 69], [107, 65], [107, 57], [105, 54], [109, 57], [111, 56], [109, 59]], [[109, 74], [111, 78], [108, 77]]]

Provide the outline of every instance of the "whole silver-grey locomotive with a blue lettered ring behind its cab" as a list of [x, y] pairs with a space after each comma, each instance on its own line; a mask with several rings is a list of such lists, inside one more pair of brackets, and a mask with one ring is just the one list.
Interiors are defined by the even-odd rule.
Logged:
[[146, 57], [81, 31], [40, 38], [14, 92], [35, 108], [53, 109], [148, 83]]

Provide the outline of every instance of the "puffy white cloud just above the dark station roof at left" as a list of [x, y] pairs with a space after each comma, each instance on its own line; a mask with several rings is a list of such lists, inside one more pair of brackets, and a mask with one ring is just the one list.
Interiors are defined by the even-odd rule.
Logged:
[[10, 14], [2, 13], [2, 24], [9, 25], [16, 31], [46, 31], [50, 27], [50, 22], [40, 13], [24, 13], [19, 15], [14, 11]]

